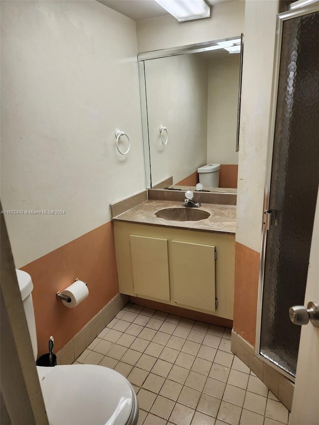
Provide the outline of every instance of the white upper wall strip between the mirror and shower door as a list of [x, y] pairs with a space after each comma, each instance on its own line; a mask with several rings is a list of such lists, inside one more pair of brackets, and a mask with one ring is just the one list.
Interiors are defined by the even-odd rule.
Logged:
[[236, 241], [257, 252], [261, 243], [277, 11], [278, 0], [246, 1]]

